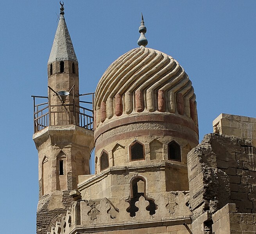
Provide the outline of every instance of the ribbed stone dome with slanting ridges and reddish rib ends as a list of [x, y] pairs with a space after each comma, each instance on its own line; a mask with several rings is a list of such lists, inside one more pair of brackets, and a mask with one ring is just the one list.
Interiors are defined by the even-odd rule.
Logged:
[[194, 89], [171, 56], [151, 48], [135, 48], [105, 71], [95, 92], [95, 129], [117, 116], [170, 113], [197, 125]]

